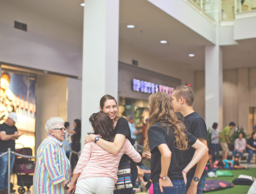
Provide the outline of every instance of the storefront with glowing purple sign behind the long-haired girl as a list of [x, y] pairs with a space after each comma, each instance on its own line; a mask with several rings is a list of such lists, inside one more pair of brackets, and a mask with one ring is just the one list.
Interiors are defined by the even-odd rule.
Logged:
[[136, 127], [142, 128], [149, 114], [150, 94], [163, 91], [171, 96], [173, 88], [180, 84], [180, 79], [119, 62], [119, 115], [135, 116]]

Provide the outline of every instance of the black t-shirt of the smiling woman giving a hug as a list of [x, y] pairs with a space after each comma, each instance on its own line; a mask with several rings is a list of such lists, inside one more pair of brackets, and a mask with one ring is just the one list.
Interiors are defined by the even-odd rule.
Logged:
[[[125, 135], [126, 138], [132, 142], [132, 138], [131, 138], [131, 130], [129, 128], [128, 122], [125, 118], [121, 117], [117, 120], [116, 123], [116, 127], [115, 127], [115, 132], [116, 134], [122, 134]], [[136, 163], [126, 154], [124, 154], [120, 160], [120, 163], [123, 162], [127, 162], [130, 161], [131, 162], [131, 173], [135, 173], [138, 171]]]

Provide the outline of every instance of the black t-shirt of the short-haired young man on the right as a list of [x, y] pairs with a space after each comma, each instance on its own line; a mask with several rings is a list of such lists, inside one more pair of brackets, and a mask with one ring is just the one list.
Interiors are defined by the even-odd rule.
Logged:
[[[193, 112], [184, 118], [184, 125], [186, 126], [186, 130], [194, 135], [196, 138], [204, 138], [207, 140], [208, 144], [208, 136], [207, 136], [207, 127], [204, 122], [202, 116], [200, 116], [197, 112]], [[186, 165], [191, 161], [195, 153], [195, 149], [189, 147], [183, 154], [183, 162], [182, 168], [186, 167]], [[197, 165], [190, 169], [187, 173], [187, 177], [194, 177]], [[204, 171], [206, 173], [206, 171]]]

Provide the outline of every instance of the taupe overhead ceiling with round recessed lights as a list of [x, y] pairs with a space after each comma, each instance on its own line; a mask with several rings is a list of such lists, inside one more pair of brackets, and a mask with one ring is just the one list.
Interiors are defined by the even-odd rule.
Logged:
[[[69, 23], [82, 30], [82, 0], [8, 0], [38, 13]], [[126, 25], [133, 24], [134, 29]], [[146, 0], [120, 0], [119, 43], [129, 44], [167, 61], [184, 64], [194, 70], [204, 69], [205, 38], [184, 26]], [[168, 44], [160, 44], [160, 40]], [[223, 68], [256, 67], [256, 39], [223, 46]], [[188, 57], [189, 53], [196, 56]]]

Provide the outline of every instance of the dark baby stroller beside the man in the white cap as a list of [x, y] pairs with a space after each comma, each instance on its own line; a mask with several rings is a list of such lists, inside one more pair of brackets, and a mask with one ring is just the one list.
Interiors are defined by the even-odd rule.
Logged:
[[[16, 153], [32, 156], [32, 149], [21, 148], [17, 149]], [[26, 191], [24, 186], [29, 189], [30, 186], [33, 185], [33, 174], [35, 170], [34, 161], [32, 158], [23, 158], [15, 155], [14, 169], [15, 174], [17, 175], [17, 185], [20, 186], [18, 192], [23, 194]]]

